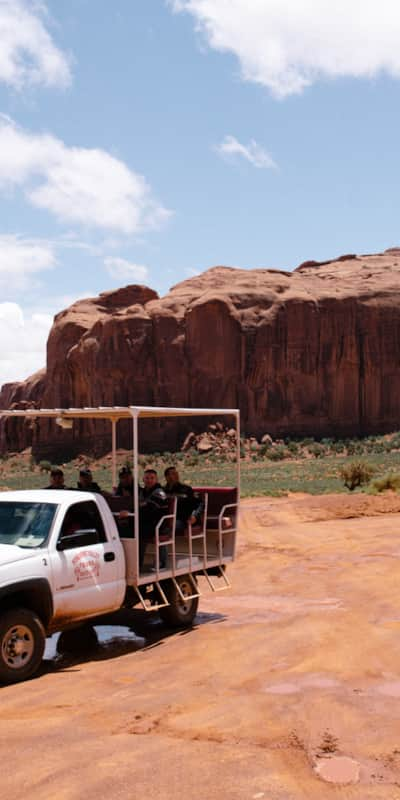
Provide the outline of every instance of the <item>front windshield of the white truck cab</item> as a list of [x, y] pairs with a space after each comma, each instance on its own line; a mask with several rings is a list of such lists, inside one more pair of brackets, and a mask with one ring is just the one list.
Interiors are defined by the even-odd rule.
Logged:
[[46, 541], [55, 503], [0, 501], [0, 544], [40, 547]]

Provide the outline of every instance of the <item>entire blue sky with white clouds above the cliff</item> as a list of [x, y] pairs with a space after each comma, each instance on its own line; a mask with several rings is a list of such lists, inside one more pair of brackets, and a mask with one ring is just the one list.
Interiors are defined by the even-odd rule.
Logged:
[[394, 0], [0, 0], [0, 384], [77, 298], [398, 245], [399, 40]]

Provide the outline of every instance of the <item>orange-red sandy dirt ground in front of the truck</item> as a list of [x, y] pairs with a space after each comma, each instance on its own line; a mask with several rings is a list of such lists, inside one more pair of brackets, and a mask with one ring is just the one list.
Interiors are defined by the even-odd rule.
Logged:
[[191, 631], [129, 612], [0, 690], [1, 796], [400, 800], [399, 531], [396, 495], [244, 501]]

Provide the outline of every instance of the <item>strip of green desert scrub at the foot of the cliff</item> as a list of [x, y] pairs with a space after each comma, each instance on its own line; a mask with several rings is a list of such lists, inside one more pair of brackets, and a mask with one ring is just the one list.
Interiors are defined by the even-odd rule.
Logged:
[[[236, 438], [233, 430], [216, 426], [203, 434], [189, 435], [178, 452], [141, 454], [142, 468], [154, 466], [160, 477], [165, 467], [176, 464], [182, 478], [193, 485], [226, 485], [235, 480]], [[312, 437], [240, 441], [242, 495], [279, 497], [289, 492], [327, 494], [400, 490], [400, 431], [382, 436], [319, 441]], [[118, 465], [131, 463], [132, 454], [118, 451]], [[88, 459], [84, 455], [63, 464], [67, 485], [76, 486], [82, 465], [90, 465], [94, 479], [111, 489], [111, 455]], [[47, 483], [49, 461], [38, 463], [29, 450], [10, 453], [0, 461], [2, 489], [39, 488]]]

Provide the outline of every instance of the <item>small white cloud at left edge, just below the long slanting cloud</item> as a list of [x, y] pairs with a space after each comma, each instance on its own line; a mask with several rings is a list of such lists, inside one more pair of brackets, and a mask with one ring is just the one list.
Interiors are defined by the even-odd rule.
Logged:
[[55, 264], [53, 247], [48, 242], [0, 235], [0, 289], [3, 296], [5, 291], [19, 291], [34, 285], [34, 276]]

